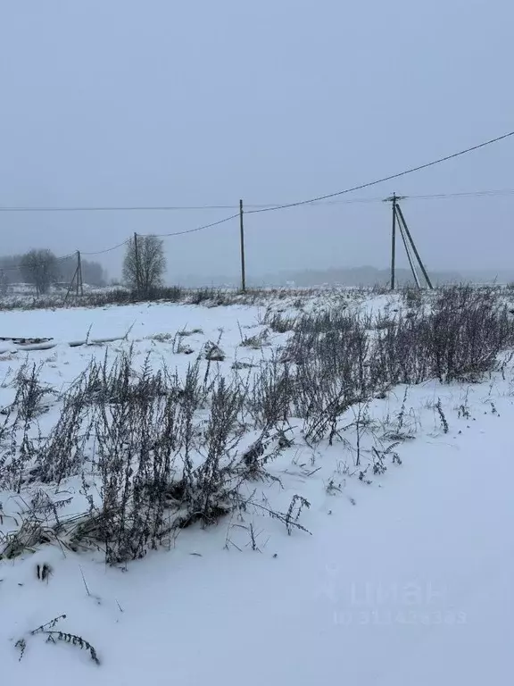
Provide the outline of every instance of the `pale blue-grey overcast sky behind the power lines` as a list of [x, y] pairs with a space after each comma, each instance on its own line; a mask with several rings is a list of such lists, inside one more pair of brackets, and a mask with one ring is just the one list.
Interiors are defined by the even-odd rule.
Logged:
[[[428, 162], [514, 129], [513, 26], [512, 0], [0, 0], [0, 205], [282, 203]], [[513, 163], [509, 138], [341, 199], [510, 189]], [[429, 267], [512, 265], [514, 195], [403, 210]], [[389, 211], [249, 215], [248, 272], [384, 267]], [[230, 213], [0, 213], [0, 254]], [[237, 241], [169, 238], [170, 272], [236, 273]]]

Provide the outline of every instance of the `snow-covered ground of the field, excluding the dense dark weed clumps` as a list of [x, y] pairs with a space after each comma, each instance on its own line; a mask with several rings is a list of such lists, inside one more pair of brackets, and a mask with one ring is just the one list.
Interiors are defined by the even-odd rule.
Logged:
[[[246, 408], [238, 412], [237, 440], [228, 440], [223, 459], [234, 460], [241, 475], [242, 464], [253, 464], [249, 448], [261, 448], [255, 478], [245, 473], [237, 482], [240, 506], [211, 526], [171, 527], [158, 549], [114, 565], [105, 564], [102, 541], [71, 550], [69, 531], [58, 525], [101, 508], [105, 484], [95, 467], [101, 471], [105, 455], [95, 436], [81, 444], [86, 461], [77, 473], [58, 484], [27, 477], [30, 464], [10, 473], [10, 488], [0, 489], [4, 682], [510, 682], [509, 351], [480, 382], [395, 384], [342, 407], [334, 431], [328, 426], [322, 436], [293, 412], [264, 435], [248, 409], [258, 406], [251, 402], [254, 375], [287, 364], [284, 350], [294, 335], [288, 322], [301, 311], [331, 307], [369, 316], [370, 337], [384, 329], [385, 319], [409, 314], [401, 297], [347, 294], [302, 302], [270, 297], [254, 306], [0, 312], [0, 335], [54, 339], [54, 347], [28, 352], [0, 342], [0, 408], [16, 400], [20, 371], [29, 388], [36, 364], [42, 392], [25, 449], [33, 455], [43, 450], [45, 464], [48, 436], [73, 382], [92, 360], [107, 369], [123, 354], [130, 354], [135, 375], [145, 365], [152, 372], [166, 368], [176, 371], [177, 383], [199, 359], [200, 384], [211, 390], [196, 414], [195, 465], [210, 449], [212, 394], [222, 377], [243, 384]], [[92, 343], [96, 339], [116, 340]], [[87, 345], [68, 345], [77, 340]], [[221, 355], [205, 359], [213, 345]], [[2, 434], [3, 417], [8, 423], [12, 415], [0, 414], [0, 480], [14, 455], [12, 433]], [[23, 421], [15, 427], [18, 437]], [[69, 449], [75, 455], [78, 444]], [[171, 522], [175, 515], [166, 516]], [[42, 523], [39, 538], [48, 529], [46, 545], [28, 539], [35, 519]], [[14, 544], [21, 540], [18, 550]]]

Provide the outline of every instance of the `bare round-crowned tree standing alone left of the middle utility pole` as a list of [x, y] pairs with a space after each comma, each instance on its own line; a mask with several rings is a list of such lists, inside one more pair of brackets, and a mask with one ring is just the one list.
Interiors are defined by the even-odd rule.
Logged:
[[123, 261], [123, 280], [130, 288], [147, 297], [152, 289], [162, 285], [166, 257], [162, 240], [156, 236], [131, 238]]

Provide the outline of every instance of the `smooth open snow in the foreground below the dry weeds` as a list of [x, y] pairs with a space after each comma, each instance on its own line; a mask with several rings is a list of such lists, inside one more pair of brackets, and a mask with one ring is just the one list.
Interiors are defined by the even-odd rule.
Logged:
[[[354, 507], [318, 503], [313, 535], [279, 549], [228, 552], [197, 531], [126, 573], [67, 556], [42, 588], [33, 568], [47, 551], [16, 583], [0, 568], [5, 682], [509, 683], [514, 406], [496, 408], [444, 441], [411, 442], [381, 488], [363, 486]], [[63, 613], [102, 665], [37, 637], [18, 662], [19, 635]]]

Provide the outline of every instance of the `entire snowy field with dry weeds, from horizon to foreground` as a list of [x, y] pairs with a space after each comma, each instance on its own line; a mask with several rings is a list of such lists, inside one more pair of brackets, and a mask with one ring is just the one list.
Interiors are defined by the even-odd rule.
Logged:
[[514, 291], [0, 311], [6, 683], [502, 684]]

